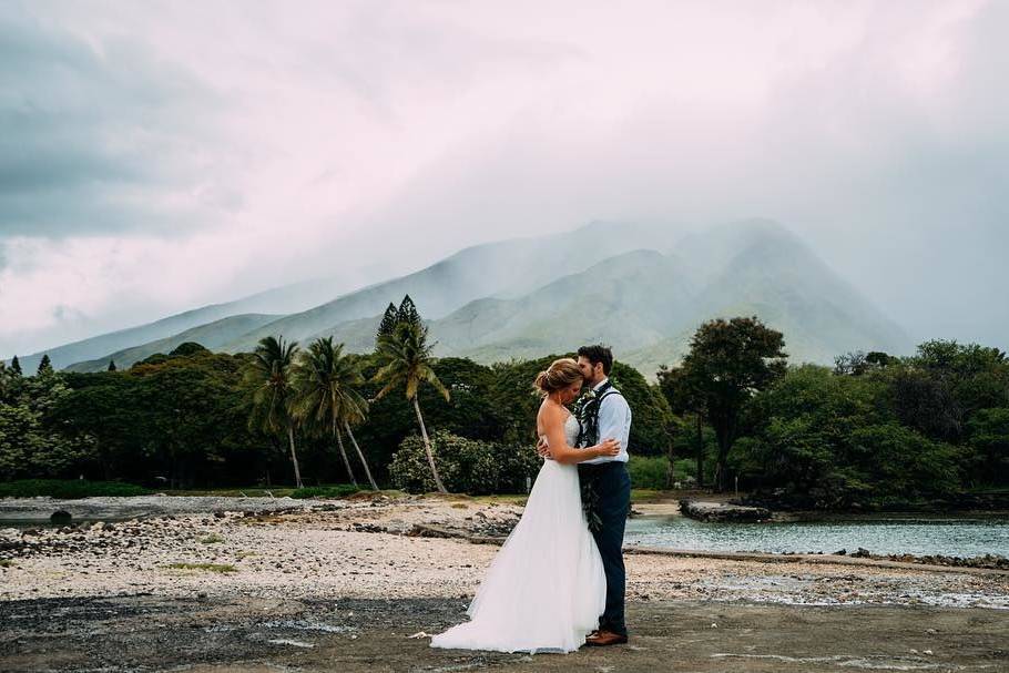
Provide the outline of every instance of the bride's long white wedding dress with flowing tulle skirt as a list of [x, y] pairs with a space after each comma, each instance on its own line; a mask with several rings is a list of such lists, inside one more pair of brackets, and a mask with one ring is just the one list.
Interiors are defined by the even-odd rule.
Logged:
[[[578, 427], [569, 416], [569, 446]], [[607, 578], [582, 512], [578, 466], [546, 460], [522, 518], [467, 609], [470, 621], [435, 635], [431, 646], [572, 652], [599, 625], [605, 603]]]

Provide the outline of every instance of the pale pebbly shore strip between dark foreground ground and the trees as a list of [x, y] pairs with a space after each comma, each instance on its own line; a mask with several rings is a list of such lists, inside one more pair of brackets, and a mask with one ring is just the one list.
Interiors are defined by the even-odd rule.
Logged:
[[[9, 560], [9, 567], [0, 568], [0, 600], [137, 591], [174, 596], [466, 598], [497, 552], [493, 543], [521, 514], [521, 506], [512, 502], [458, 497], [142, 498], [147, 500], [120, 504], [125, 510], [171, 507], [176, 513], [81, 527], [0, 529], [0, 558]], [[59, 504], [94, 512], [108, 510], [109, 500]], [[23, 513], [29, 504], [6, 501], [0, 511]], [[33, 504], [48, 511], [57, 502], [33, 499]], [[206, 511], [190, 511], [201, 504]], [[224, 509], [228, 507], [243, 509]], [[646, 514], [663, 509], [669, 503], [635, 504]], [[630, 599], [1009, 609], [1009, 571], [1002, 570], [850, 555], [669, 549], [629, 549], [626, 563]]]

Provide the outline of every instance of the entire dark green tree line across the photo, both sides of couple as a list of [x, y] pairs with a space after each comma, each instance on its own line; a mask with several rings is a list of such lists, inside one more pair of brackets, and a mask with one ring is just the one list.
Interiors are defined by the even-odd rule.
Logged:
[[[435, 358], [408, 297], [377, 337], [367, 355], [277, 335], [254, 353], [183, 344], [96, 374], [0, 364], [0, 480], [521, 490], [538, 469], [532, 381], [563, 354]], [[622, 363], [612, 378], [651, 486], [667, 465], [662, 486], [689, 473], [823, 508], [1009, 487], [1009, 360], [997, 348], [935, 340], [909, 357], [845, 354], [832, 369], [789, 364], [784, 335], [738, 317], [702, 325], [658, 384]]]

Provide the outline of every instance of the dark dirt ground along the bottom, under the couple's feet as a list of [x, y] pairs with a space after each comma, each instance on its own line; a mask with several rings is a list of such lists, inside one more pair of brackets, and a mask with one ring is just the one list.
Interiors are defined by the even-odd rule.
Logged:
[[1000, 610], [635, 601], [628, 645], [532, 656], [431, 649], [424, 634], [463, 610], [452, 599], [7, 601], [0, 670], [1009, 671]]

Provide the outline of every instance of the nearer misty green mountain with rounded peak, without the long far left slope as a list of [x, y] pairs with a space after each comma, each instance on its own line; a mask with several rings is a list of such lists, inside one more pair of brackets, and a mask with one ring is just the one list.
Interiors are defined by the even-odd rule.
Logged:
[[[651, 376], [679, 361], [703, 322], [740, 315], [783, 332], [793, 361], [910, 348], [900, 327], [779, 225], [737, 223], [673, 248], [680, 254], [625, 253], [521, 297], [471, 302], [429, 322], [436, 353], [492, 363], [601, 341]], [[332, 335], [351, 350], [370, 350], [378, 320], [337, 325], [313, 338]]]

